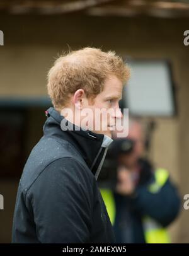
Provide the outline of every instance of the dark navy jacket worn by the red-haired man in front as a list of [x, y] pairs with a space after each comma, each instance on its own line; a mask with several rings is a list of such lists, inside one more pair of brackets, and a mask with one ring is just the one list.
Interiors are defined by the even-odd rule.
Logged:
[[86, 130], [62, 131], [64, 117], [54, 108], [48, 112], [44, 136], [21, 176], [12, 241], [113, 243], [112, 225], [96, 183], [112, 139]]

